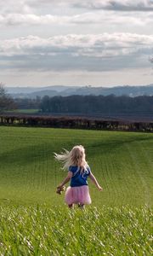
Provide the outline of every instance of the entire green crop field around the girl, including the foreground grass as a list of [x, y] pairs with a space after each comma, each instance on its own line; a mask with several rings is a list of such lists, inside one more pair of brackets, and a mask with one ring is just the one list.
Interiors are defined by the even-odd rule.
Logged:
[[[103, 187], [69, 211], [54, 152], [86, 148]], [[0, 255], [150, 255], [153, 134], [0, 127]]]

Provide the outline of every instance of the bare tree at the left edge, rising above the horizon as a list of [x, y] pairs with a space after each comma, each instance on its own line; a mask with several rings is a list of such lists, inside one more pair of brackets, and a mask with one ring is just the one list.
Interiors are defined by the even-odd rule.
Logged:
[[0, 83], [0, 112], [16, 108], [14, 100], [8, 96], [3, 83]]

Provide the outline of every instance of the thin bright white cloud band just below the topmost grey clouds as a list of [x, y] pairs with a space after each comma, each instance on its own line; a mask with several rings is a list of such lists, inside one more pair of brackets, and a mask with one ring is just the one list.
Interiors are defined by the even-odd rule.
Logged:
[[153, 17], [145, 15], [143, 19], [140, 17], [122, 16], [105, 14], [103, 11], [99, 14], [83, 13], [81, 15], [33, 15], [33, 14], [9, 14], [0, 15], [1, 26], [42, 26], [42, 25], [77, 25], [77, 24], [99, 24], [104, 22], [111, 22], [113, 24], [122, 24], [128, 22], [137, 26], [144, 26], [146, 23], [150, 23]]

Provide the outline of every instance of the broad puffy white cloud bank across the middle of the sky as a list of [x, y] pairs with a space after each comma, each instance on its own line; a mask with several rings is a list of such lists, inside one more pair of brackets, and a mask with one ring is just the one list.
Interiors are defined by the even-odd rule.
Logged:
[[103, 33], [39, 38], [28, 36], [0, 41], [0, 55], [59, 54], [68, 52], [71, 55], [113, 56], [129, 55], [138, 50], [152, 49], [153, 35], [131, 33]]

